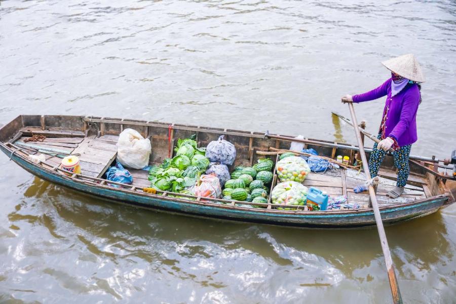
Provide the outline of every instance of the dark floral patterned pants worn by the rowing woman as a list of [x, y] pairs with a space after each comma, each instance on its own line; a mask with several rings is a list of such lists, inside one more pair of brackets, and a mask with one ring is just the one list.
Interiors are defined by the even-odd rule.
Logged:
[[[381, 134], [378, 134], [377, 138], [380, 139]], [[411, 144], [400, 147], [393, 152], [394, 165], [398, 169], [396, 183], [398, 187], [403, 187], [407, 183], [408, 174], [410, 173], [410, 168], [408, 167], [410, 148]], [[380, 165], [382, 164], [382, 161], [385, 158], [386, 154], [387, 151], [383, 149], [377, 149], [377, 143], [374, 144], [369, 159], [369, 172], [371, 177], [374, 177], [378, 174], [378, 170], [380, 169]]]

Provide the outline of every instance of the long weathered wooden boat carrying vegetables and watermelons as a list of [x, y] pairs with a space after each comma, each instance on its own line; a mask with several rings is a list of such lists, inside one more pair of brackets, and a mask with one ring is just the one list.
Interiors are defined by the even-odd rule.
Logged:
[[[116, 159], [118, 136], [125, 128], [135, 129], [150, 139], [153, 147], [150, 164], [162, 163], [170, 156], [170, 152], [172, 153], [176, 139], [187, 138], [193, 134], [197, 135], [200, 146], [205, 146], [224, 134], [225, 139], [234, 143], [237, 149], [234, 166], [251, 166], [258, 158], [264, 158], [264, 155], [272, 155], [276, 160], [277, 149], [289, 148], [292, 141], [291, 136], [265, 136], [261, 132], [161, 122], [21, 115], [0, 129], [0, 148], [19, 166], [42, 179], [81, 193], [131, 206], [190, 216], [284, 226], [355, 228], [375, 225], [372, 208], [369, 208], [369, 195], [353, 192], [353, 187], [363, 182], [363, 175], [350, 168], [327, 170], [324, 174], [311, 173], [303, 184], [316, 186], [330, 195], [345, 195], [349, 203], [359, 204], [359, 209], [309, 211], [307, 207], [302, 206], [300, 209], [279, 210], [278, 205], [271, 204], [271, 198], [268, 204], [261, 206], [264, 208], [251, 208], [249, 205], [252, 203], [248, 202], [243, 202], [244, 205], [239, 206], [239, 202], [222, 199], [202, 199], [186, 195], [174, 197], [169, 192], [161, 191], [149, 194], [143, 191], [143, 187], [149, 186], [148, 173], [144, 170], [130, 170], [134, 177], [131, 185], [107, 181], [103, 174]], [[26, 142], [25, 139], [32, 135], [45, 135], [46, 139], [43, 142]], [[273, 138], [274, 136], [276, 138]], [[357, 147], [354, 145], [315, 139], [306, 142], [306, 148], [316, 149], [321, 156], [334, 158], [336, 155], [347, 155], [350, 156], [352, 163], [355, 159]], [[46, 161], [32, 162], [29, 156], [39, 151], [48, 153]], [[51, 152], [54, 155], [49, 155]], [[62, 154], [60, 157], [66, 154], [80, 154], [81, 174], [70, 174], [59, 168], [61, 158], [58, 154]], [[404, 195], [398, 199], [390, 199], [386, 193], [395, 185], [396, 178], [392, 157], [387, 156], [383, 163], [379, 172], [381, 183], [377, 188], [377, 197], [386, 224], [425, 216], [455, 201], [456, 181], [444, 176], [438, 163], [411, 160], [410, 170]]]

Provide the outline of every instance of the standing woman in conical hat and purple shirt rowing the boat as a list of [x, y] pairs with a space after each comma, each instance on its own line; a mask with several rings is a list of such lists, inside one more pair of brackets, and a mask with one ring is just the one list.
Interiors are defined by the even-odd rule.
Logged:
[[383, 119], [369, 159], [371, 177], [378, 169], [390, 148], [394, 149], [394, 165], [398, 169], [397, 184], [387, 196], [397, 198], [404, 192], [410, 168], [408, 158], [416, 136], [416, 111], [421, 103], [421, 85], [425, 81], [421, 66], [413, 54], [382, 62], [391, 70], [391, 78], [372, 91], [342, 97], [342, 102], [364, 102], [387, 96]]

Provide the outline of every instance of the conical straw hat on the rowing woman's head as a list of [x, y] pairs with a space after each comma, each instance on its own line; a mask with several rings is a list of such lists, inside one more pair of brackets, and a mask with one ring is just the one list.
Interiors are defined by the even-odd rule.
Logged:
[[389, 70], [415, 82], [425, 82], [420, 64], [413, 54], [402, 55], [382, 62]]

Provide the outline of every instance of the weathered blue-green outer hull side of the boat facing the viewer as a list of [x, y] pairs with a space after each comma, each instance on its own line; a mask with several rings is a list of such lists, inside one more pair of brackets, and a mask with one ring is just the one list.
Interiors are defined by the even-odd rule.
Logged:
[[[0, 148], [5, 154], [10, 156], [10, 149], [4, 145], [1, 145]], [[281, 212], [277, 210], [233, 208], [226, 205], [170, 199], [166, 197], [162, 198], [157, 195], [151, 196], [107, 185], [88, 183], [36, 166], [17, 155], [13, 155], [11, 159], [31, 174], [52, 183], [74, 189], [80, 193], [151, 210], [167, 211], [211, 219], [217, 218], [320, 229], [347, 229], [375, 225], [372, 209], [329, 212]], [[409, 204], [384, 207], [381, 209], [382, 219], [385, 224], [395, 224], [412, 218], [421, 217], [438, 211], [446, 200], [447, 196], [441, 195]]]

